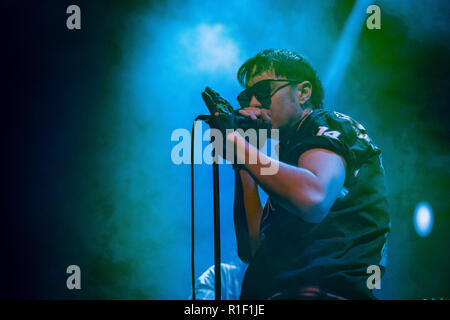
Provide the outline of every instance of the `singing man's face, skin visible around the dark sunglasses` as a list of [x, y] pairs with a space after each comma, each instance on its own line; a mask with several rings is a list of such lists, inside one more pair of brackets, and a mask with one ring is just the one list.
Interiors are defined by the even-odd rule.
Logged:
[[[286, 77], [276, 77], [271, 70], [262, 72], [248, 81], [251, 87], [255, 83], [265, 79], [286, 79]], [[271, 82], [272, 92], [278, 87], [286, 85], [286, 82]], [[260, 108], [261, 103], [254, 96], [250, 101], [250, 107]], [[300, 105], [297, 97], [297, 87], [291, 85], [278, 90], [271, 99], [270, 116], [272, 118], [272, 128], [280, 128], [285, 125], [291, 125], [300, 115]]]

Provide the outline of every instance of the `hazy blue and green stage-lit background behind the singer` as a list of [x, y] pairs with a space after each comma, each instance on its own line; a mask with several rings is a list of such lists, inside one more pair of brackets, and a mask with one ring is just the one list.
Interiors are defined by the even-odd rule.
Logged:
[[[30, 65], [47, 84], [26, 101], [35, 115], [23, 153], [29, 205], [15, 221], [27, 248], [18, 264], [35, 276], [33, 289], [16, 295], [188, 299], [190, 166], [171, 160], [173, 131], [190, 131], [207, 113], [206, 86], [237, 107], [237, 70], [263, 49], [304, 54], [323, 80], [355, 1], [81, 1], [82, 29], [70, 32], [69, 4], [35, 5], [47, 18], [29, 45], [41, 54]], [[450, 6], [375, 4], [382, 28], [360, 26], [325, 107], [362, 123], [383, 151], [392, 231], [376, 295], [450, 298]], [[196, 165], [195, 181], [199, 276], [214, 263], [212, 167]], [[220, 168], [220, 192], [222, 260], [233, 261], [230, 165]], [[413, 225], [421, 201], [435, 219], [426, 238]], [[80, 291], [65, 287], [71, 264], [81, 267]]]

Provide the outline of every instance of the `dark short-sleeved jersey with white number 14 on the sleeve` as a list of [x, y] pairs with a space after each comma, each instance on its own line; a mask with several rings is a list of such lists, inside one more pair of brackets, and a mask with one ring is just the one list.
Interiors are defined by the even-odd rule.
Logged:
[[309, 285], [350, 299], [373, 298], [367, 269], [376, 265], [384, 272], [390, 231], [381, 151], [361, 124], [338, 112], [313, 110], [280, 129], [280, 161], [297, 166], [301, 154], [315, 148], [345, 159], [341, 196], [320, 223], [305, 222], [269, 198], [241, 299]]

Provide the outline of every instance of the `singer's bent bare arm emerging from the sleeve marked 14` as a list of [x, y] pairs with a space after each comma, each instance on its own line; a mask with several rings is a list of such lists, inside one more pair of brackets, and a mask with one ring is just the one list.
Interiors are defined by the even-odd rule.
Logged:
[[[246, 159], [258, 159], [256, 164], [245, 166], [280, 205], [307, 222], [318, 223], [326, 217], [345, 181], [345, 161], [341, 156], [325, 149], [312, 149], [300, 156], [296, 167], [259, 152], [236, 132], [227, 139], [235, 142], [238, 157], [245, 154]], [[275, 174], [261, 173], [262, 168], [271, 166], [278, 168]]]

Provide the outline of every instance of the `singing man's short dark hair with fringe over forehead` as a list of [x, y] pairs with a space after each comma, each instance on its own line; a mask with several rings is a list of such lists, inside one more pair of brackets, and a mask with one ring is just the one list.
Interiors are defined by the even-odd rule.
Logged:
[[[253, 72], [255, 66], [256, 70]], [[311, 82], [312, 94], [309, 99], [311, 107], [323, 107], [323, 87], [316, 71], [305, 57], [286, 49], [267, 49], [247, 60], [239, 68], [238, 81], [247, 87], [250, 78], [268, 70], [273, 70], [276, 77]]]

